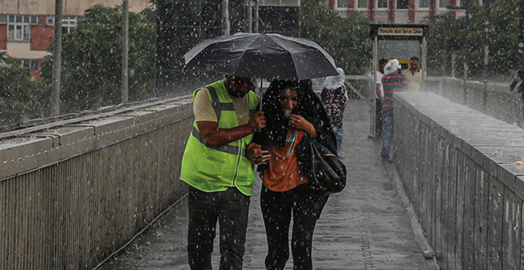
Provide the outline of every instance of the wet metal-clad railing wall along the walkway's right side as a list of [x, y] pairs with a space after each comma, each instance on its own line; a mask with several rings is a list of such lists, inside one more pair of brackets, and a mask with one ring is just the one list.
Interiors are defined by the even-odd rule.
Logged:
[[524, 265], [524, 129], [398, 93], [394, 163], [442, 269]]

